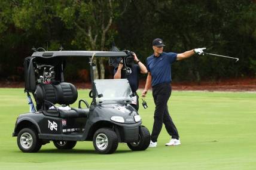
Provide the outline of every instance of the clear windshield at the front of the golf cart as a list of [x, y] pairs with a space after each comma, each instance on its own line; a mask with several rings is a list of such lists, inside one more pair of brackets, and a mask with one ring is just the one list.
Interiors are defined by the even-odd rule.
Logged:
[[132, 101], [132, 89], [127, 79], [97, 79], [96, 101]]

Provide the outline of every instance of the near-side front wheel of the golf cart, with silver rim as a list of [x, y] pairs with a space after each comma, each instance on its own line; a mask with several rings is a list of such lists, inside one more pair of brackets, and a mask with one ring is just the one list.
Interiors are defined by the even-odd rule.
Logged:
[[[105, 141], [100, 141], [100, 139]], [[103, 145], [100, 147], [100, 145]], [[97, 153], [111, 154], [117, 150], [117, 134], [112, 129], [100, 128], [93, 135], [93, 146]]]

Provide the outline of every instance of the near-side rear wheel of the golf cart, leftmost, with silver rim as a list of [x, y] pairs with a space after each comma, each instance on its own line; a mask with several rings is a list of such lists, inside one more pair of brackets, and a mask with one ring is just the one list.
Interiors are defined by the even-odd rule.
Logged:
[[38, 152], [42, 147], [38, 134], [31, 128], [24, 128], [19, 131], [17, 144], [22, 152]]

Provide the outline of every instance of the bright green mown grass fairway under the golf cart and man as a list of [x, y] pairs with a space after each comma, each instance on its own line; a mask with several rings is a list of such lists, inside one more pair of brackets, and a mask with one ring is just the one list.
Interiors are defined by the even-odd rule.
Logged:
[[[88, 90], [78, 98], [91, 101]], [[151, 92], [140, 106], [143, 124], [152, 130]], [[181, 136], [181, 146], [170, 140], [163, 126], [158, 146], [132, 152], [119, 144], [114, 154], [97, 154], [92, 142], [78, 142], [73, 150], [57, 150], [53, 143], [38, 153], [22, 153], [11, 137], [17, 116], [28, 112], [23, 89], [0, 89], [0, 169], [255, 169], [256, 93], [173, 91], [169, 111]], [[141, 103], [141, 101], [140, 101]], [[73, 106], [77, 107], [77, 103]], [[107, 114], [107, 113], [106, 113]]]

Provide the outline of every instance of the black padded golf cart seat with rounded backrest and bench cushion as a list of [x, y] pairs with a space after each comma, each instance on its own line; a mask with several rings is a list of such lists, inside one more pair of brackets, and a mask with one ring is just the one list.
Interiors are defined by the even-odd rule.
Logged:
[[59, 84], [39, 84], [36, 86], [36, 104], [42, 106], [42, 112], [48, 116], [60, 118], [87, 118], [89, 109], [72, 108], [63, 110], [54, 104], [69, 106], [77, 100], [77, 88], [61, 82]]

